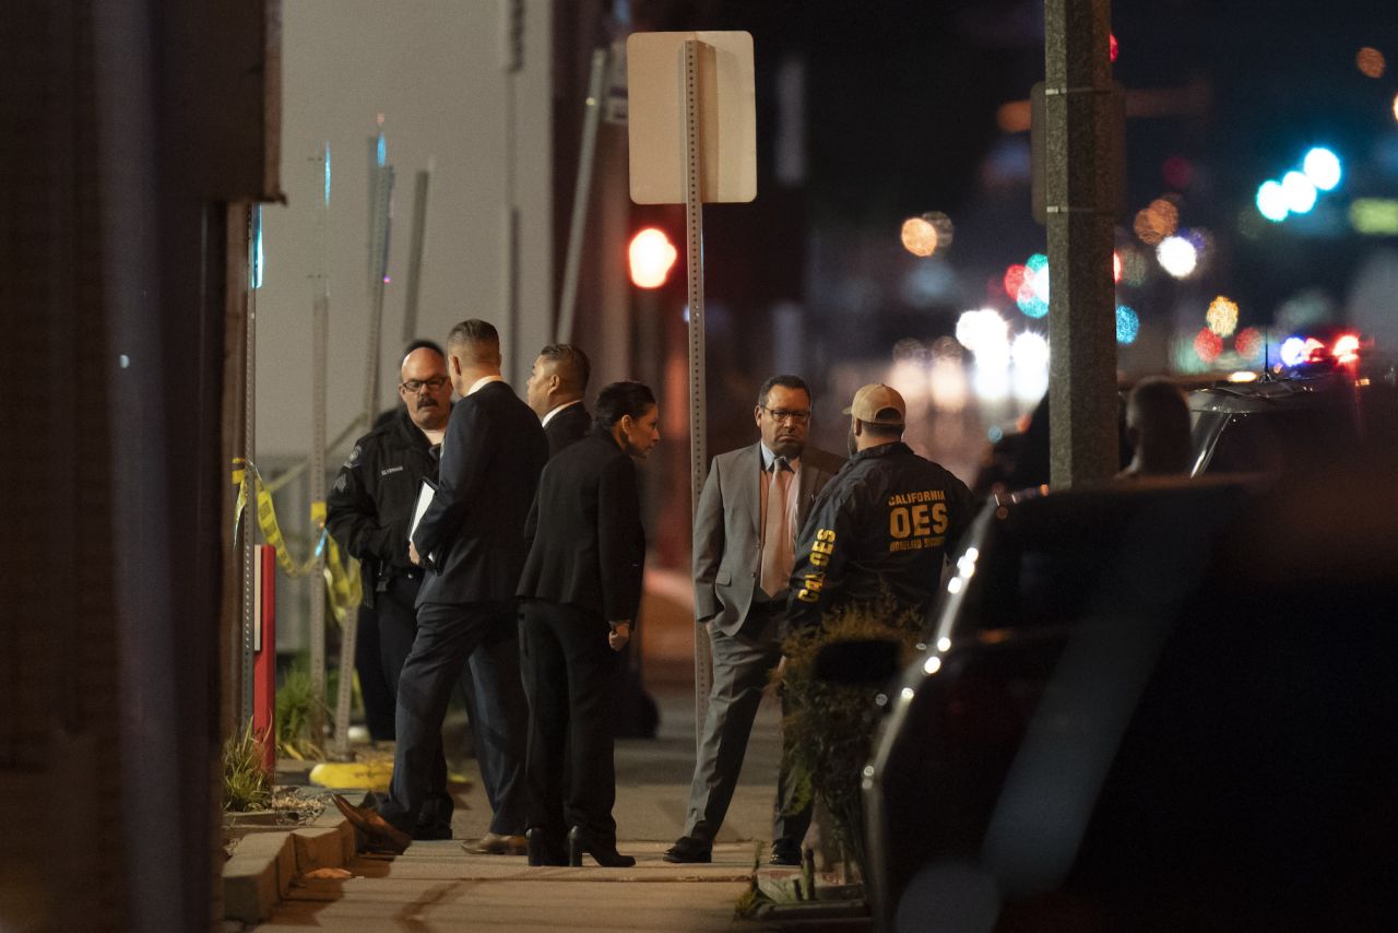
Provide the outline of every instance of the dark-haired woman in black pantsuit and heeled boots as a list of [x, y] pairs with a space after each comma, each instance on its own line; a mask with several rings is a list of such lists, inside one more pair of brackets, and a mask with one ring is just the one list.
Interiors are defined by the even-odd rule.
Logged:
[[640, 604], [646, 534], [632, 457], [660, 441], [656, 399], [639, 382], [615, 382], [597, 396], [594, 425], [548, 462], [524, 530], [530, 864], [562, 863], [568, 827], [573, 864], [583, 850], [604, 866], [635, 864], [617, 853], [611, 813], [617, 659], [607, 649], [625, 648]]

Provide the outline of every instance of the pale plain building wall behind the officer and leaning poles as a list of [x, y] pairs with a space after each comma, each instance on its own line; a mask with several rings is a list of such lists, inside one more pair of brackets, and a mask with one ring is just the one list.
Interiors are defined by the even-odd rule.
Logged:
[[[512, 7], [523, 8], [523, 67], [506, 67]], [[432, 162], [417, 336], [443, 341], [464, 318], [505, 340], [506, 378], [523, 392], [552, 311], [552, 0], [285, 0], [285, 206], [263, 208], [257, 302], [257, 455], [309, 453], [312, 276], [320, 269], [316, 159], [330, 143], [329, 417], [334, 438], [363, 407], [369, 322], [369, 155], [383, 115], [397, 169], [380, 357], [380, 400], [397, 401], [414, 176]], [[509, 215], [520, 276], [513, 322]], [[338, 460], [331, 452], [330, 466]]]

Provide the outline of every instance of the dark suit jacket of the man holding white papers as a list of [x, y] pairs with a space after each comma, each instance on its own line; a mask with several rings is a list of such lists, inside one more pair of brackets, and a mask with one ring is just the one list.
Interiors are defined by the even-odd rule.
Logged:
[[514, 597], [524, 519], [547, 460], [538, 415], [507, 383], [487, 383], [452, 407], [436, 495], [412, 536], [426, 567], [418, 604]]

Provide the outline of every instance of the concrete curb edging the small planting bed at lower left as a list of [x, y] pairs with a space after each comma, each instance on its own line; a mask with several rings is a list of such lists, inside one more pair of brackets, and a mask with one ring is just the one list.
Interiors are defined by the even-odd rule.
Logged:
[[291, 883], [316, 869], [340, 869], [354, 859], [354, 827], [336, 810], [285, 832], [250, 832], [224, 863], [224, 919], [260, 923], [291, 892]]

